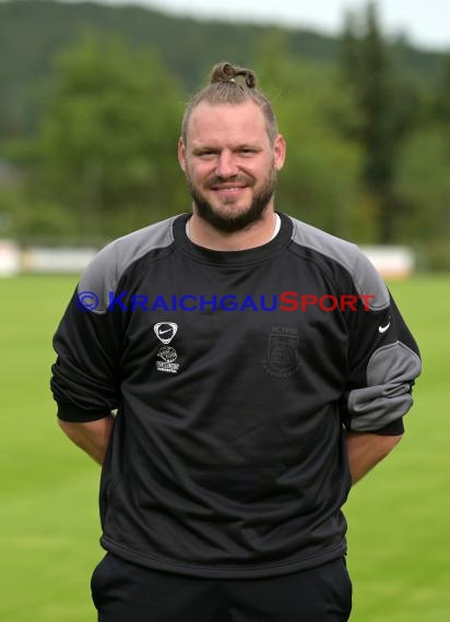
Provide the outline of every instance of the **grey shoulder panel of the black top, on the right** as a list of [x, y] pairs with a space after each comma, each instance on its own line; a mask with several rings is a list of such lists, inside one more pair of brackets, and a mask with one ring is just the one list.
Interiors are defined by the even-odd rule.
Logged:
[[311, 225], [292, 218], [293, 241], [338, 262], [352, 276], [356, 291], [362, 296], [372, 295], [369, 309], [381, 311], [390, 304], [388, 288], [368, 258], [356, 244], [321, 231]]

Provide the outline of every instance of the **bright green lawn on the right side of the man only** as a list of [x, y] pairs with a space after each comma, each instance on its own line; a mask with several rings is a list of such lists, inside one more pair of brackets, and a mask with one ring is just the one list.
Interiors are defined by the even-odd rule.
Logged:
[[442, 622], [450, 614], [450, 278], [416, 277], [391, 291], [424, 371], [402, 443], [346, 506], [352, 621]]

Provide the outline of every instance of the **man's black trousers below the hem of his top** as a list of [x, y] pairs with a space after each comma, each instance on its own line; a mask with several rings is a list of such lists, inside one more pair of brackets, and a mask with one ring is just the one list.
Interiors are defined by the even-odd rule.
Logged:
[[344, 559], [282, 576], [215, 579], [150, 570], [107, 553], [91, 582], [98, 622], [344, 622]]

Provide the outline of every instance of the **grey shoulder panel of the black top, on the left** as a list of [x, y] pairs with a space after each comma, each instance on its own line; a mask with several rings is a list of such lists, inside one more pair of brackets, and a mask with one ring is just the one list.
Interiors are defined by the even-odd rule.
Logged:
[[109, 291], [115, 291], [127, 267], [155, 249], [169, 247], [174, 241], [171, 224], [177, 216], [150, 225], [110, 242], [102, 249], [84, 270], [78, 292], [94, 294], [97, 306], [94, 313], [105, 313], [108, 308]]

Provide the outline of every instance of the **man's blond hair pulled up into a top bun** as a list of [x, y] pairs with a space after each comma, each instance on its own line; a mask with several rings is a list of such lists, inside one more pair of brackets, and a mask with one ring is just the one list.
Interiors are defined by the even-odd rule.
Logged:
[[218, 62], [213, 67], [210, 84], [197, 93], [186, 107], [181, 125], [181, 137], [185, 144], [192, 110], [202, 101], [210, 106], [221, 104], [239, 106], [247, 101], [254, 101], [264, 115], [269, 139], [272, 143], [279, 133], [272, 106], [265, 95], [257, 88], [257, 76], [250, 69], [244, 69], [230, 62]]

